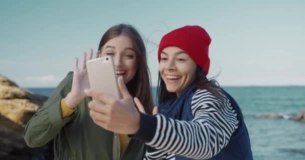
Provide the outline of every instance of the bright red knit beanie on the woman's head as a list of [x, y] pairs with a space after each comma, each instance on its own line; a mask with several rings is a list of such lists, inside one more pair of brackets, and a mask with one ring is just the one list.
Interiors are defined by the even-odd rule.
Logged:
[[165, 34], [159, 45], [158, 60], [161, 51], [168, 46], [177, 46], [186, 51], [192, 59], [209, 73], [209, 45], [211, 38], [204, 28], [198, 25], [186, 25]]

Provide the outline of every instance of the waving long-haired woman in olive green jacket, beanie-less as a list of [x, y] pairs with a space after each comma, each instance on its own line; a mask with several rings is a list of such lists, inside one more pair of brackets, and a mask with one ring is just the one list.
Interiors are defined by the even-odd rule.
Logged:
[[[116, 74], [123, 77], [128, 91], [146, 104], [151, 113], [153, 97], [149, 84], [144, 42], [134, 27], [119, 24], [102, 36], [97, 56], [111, 55]], [[93, 51], [90, 49], [89, 58]], [[144, 144], [96, 125], [90, 117], [84, 89], [89, 88], [86, 52], [78, 68], [56, 87], [55, 91], [28, 122], [24, 138], [31, 147], [42, 146], [54, 139], [55, 159], [142, 159]]]

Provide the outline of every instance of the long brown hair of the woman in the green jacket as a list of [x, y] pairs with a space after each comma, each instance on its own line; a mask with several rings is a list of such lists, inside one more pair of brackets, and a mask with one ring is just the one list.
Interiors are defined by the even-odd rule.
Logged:
[[138, 31], [130, 24], [118, 24], [110, 27], [102, 36], [98, 50], [110, 39], [119, 35], [128, 36], [133, 44], [137, 70], [134, 77], [126, 84], [129, 93], [132, 97], [137, 97], [143, 104], [146, 113], [153, 111], [154, 101], [151, 93], [150, 71], [147, 66], [146, 49], [144, 42]]

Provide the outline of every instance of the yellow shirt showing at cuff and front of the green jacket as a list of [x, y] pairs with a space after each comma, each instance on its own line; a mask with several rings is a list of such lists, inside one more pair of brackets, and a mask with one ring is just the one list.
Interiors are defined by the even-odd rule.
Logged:
[[[64, 99], [60, 101], [60, 108], [61, 108], [61, 116], [63, 118], [70, 116], [75, 110], [69, 108], [68, 105], [65, 104]], [[118, 134], [118, 135], [120, 139], [120, 153], [122, 155], [128, 144], [128, 135], [127, 134]]]

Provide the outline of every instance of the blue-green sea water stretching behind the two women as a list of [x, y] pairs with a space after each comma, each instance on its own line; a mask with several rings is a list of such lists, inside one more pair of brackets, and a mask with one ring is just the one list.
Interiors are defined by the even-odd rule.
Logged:
[[[254, 159], [305, 160], [305, 122], [257, 118], [257, 114], [297, 114], [305, 110], [305, 86], [223, 86], [239, 103]], [[27, 88], [50, 96], [55, 88]], [[153, 87], [153, 93], [157, 88]]]

